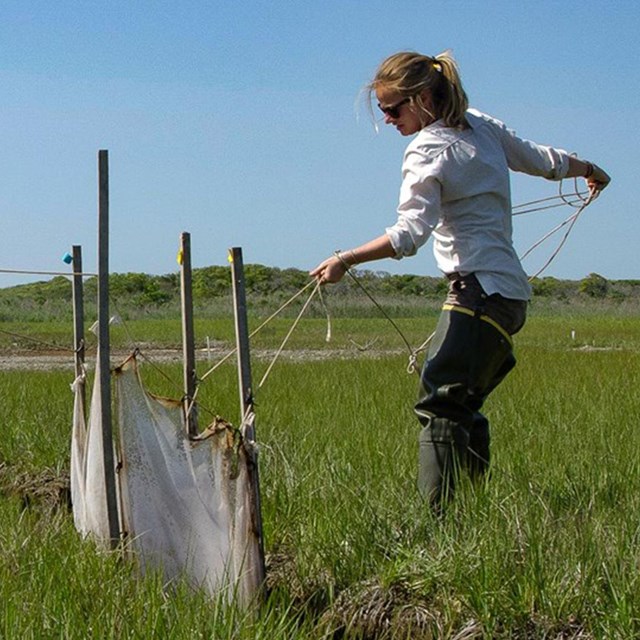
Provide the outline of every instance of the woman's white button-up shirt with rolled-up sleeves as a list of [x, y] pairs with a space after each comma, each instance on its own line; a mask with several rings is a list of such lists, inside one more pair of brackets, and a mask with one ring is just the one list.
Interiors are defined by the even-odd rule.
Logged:
[[487, 295], [528, 300], [527, 275], [512, 243], [509, 169], [561, 180], [569, 154], [519, 138], [473, 109], [468, 129], [442, 120], [409, 143], [402, 164], [398, 220], [386, 229], [396, 258], [433, 236], [438, 268], [475, 273]]

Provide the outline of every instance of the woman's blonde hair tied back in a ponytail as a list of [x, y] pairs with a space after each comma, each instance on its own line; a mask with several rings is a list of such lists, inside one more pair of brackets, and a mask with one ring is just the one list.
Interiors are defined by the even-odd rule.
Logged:
[[[411, 102], [426, 115], [442, 118], [447, 127], [465, 129], [465, 112], [469, 107], [462, 87], [458, 65], [449, 51], [435, 57], [414, 51], [401, 51], [380, 64], [373, 80], [367, 85], [369, 104], [376, 89], [384, 87]], [[435, 113], [431, 113], [420, 95], [429, 91]]]

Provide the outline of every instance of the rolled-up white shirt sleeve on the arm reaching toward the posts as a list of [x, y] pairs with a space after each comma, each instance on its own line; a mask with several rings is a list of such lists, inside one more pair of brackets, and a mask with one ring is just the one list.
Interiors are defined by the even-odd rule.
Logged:
[[414, 255], [427, 242], [440, 219], [441, 185], [438, 163], [409, 149], [402, 164], [398, 220], [385, 229], [395, 258]]

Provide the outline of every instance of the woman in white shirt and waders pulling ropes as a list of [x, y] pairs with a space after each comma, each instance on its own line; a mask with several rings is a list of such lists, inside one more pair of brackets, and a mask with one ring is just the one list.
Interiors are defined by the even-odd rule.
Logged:
[[592, 195], [609, 183], [598, 166], [523, 140], [468, 109], [455, 61], [401, 52], [368, 85], [386, 124], [409, 143], [398, 219], [378, 238], [311, 271], [338, 282], [356, 264], [403, 258], [433, 237], [449, 292], [421, 375], [415, 412], [422, 424], [418, 487], [434, 505], [452, 495], [460, 467], [489, 464], [489, 423], [480, 408], [514, 367], [511, 336], [525, 321], [531, 291], [512, 244], [509, 170], [550, 180], [584, 177]]

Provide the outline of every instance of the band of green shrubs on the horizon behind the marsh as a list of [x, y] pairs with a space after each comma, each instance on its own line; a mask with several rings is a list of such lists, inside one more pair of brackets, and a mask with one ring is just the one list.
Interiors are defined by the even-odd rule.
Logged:
[[[443, 278], [411, 274], [392, 275], [383, 271], [356, 269], [361, 284], [376, 299], [389, 307], [390, 313], [419, 316], [425, 307], [431, 309], [442, 299], [447, 282]], [[180, 310], [178, 273], [149, 275], [114, 273], [109, 277], [112, 312], [125, 319], [147, 317], [168, 319]], [[279, 269], [260, 264], [245, 265], [247, 295], [258, 315], [268, 313], [309, 283], [309, 275], [299, 269]], [[87, 318], [95, 319], [97, 281], [85, 280]], [[541, 309], [608, 306], [618, 313], [635, 313], [640, 307], [640, 280], [608, 280], [591, 273], [581, 280], [554, 277], [535, 278], [532, 282], [534, 304]], [[347, 317], [377, 312], [350, 278], [327, 289], [334, 313]], [[0, 288], [0, 322], [48, 322], [70, 319], [71, 281], [57, 276], [48, 281]], [[193, 300], [196, 314], [225, 317], [231, 309], [231, 274], [229, 267], [210, 266], [193, 270]], [[287, 312], [291, 313], [291, 312]], [[311, 315], [322, 315], [322, 305], [310, 309]]]

